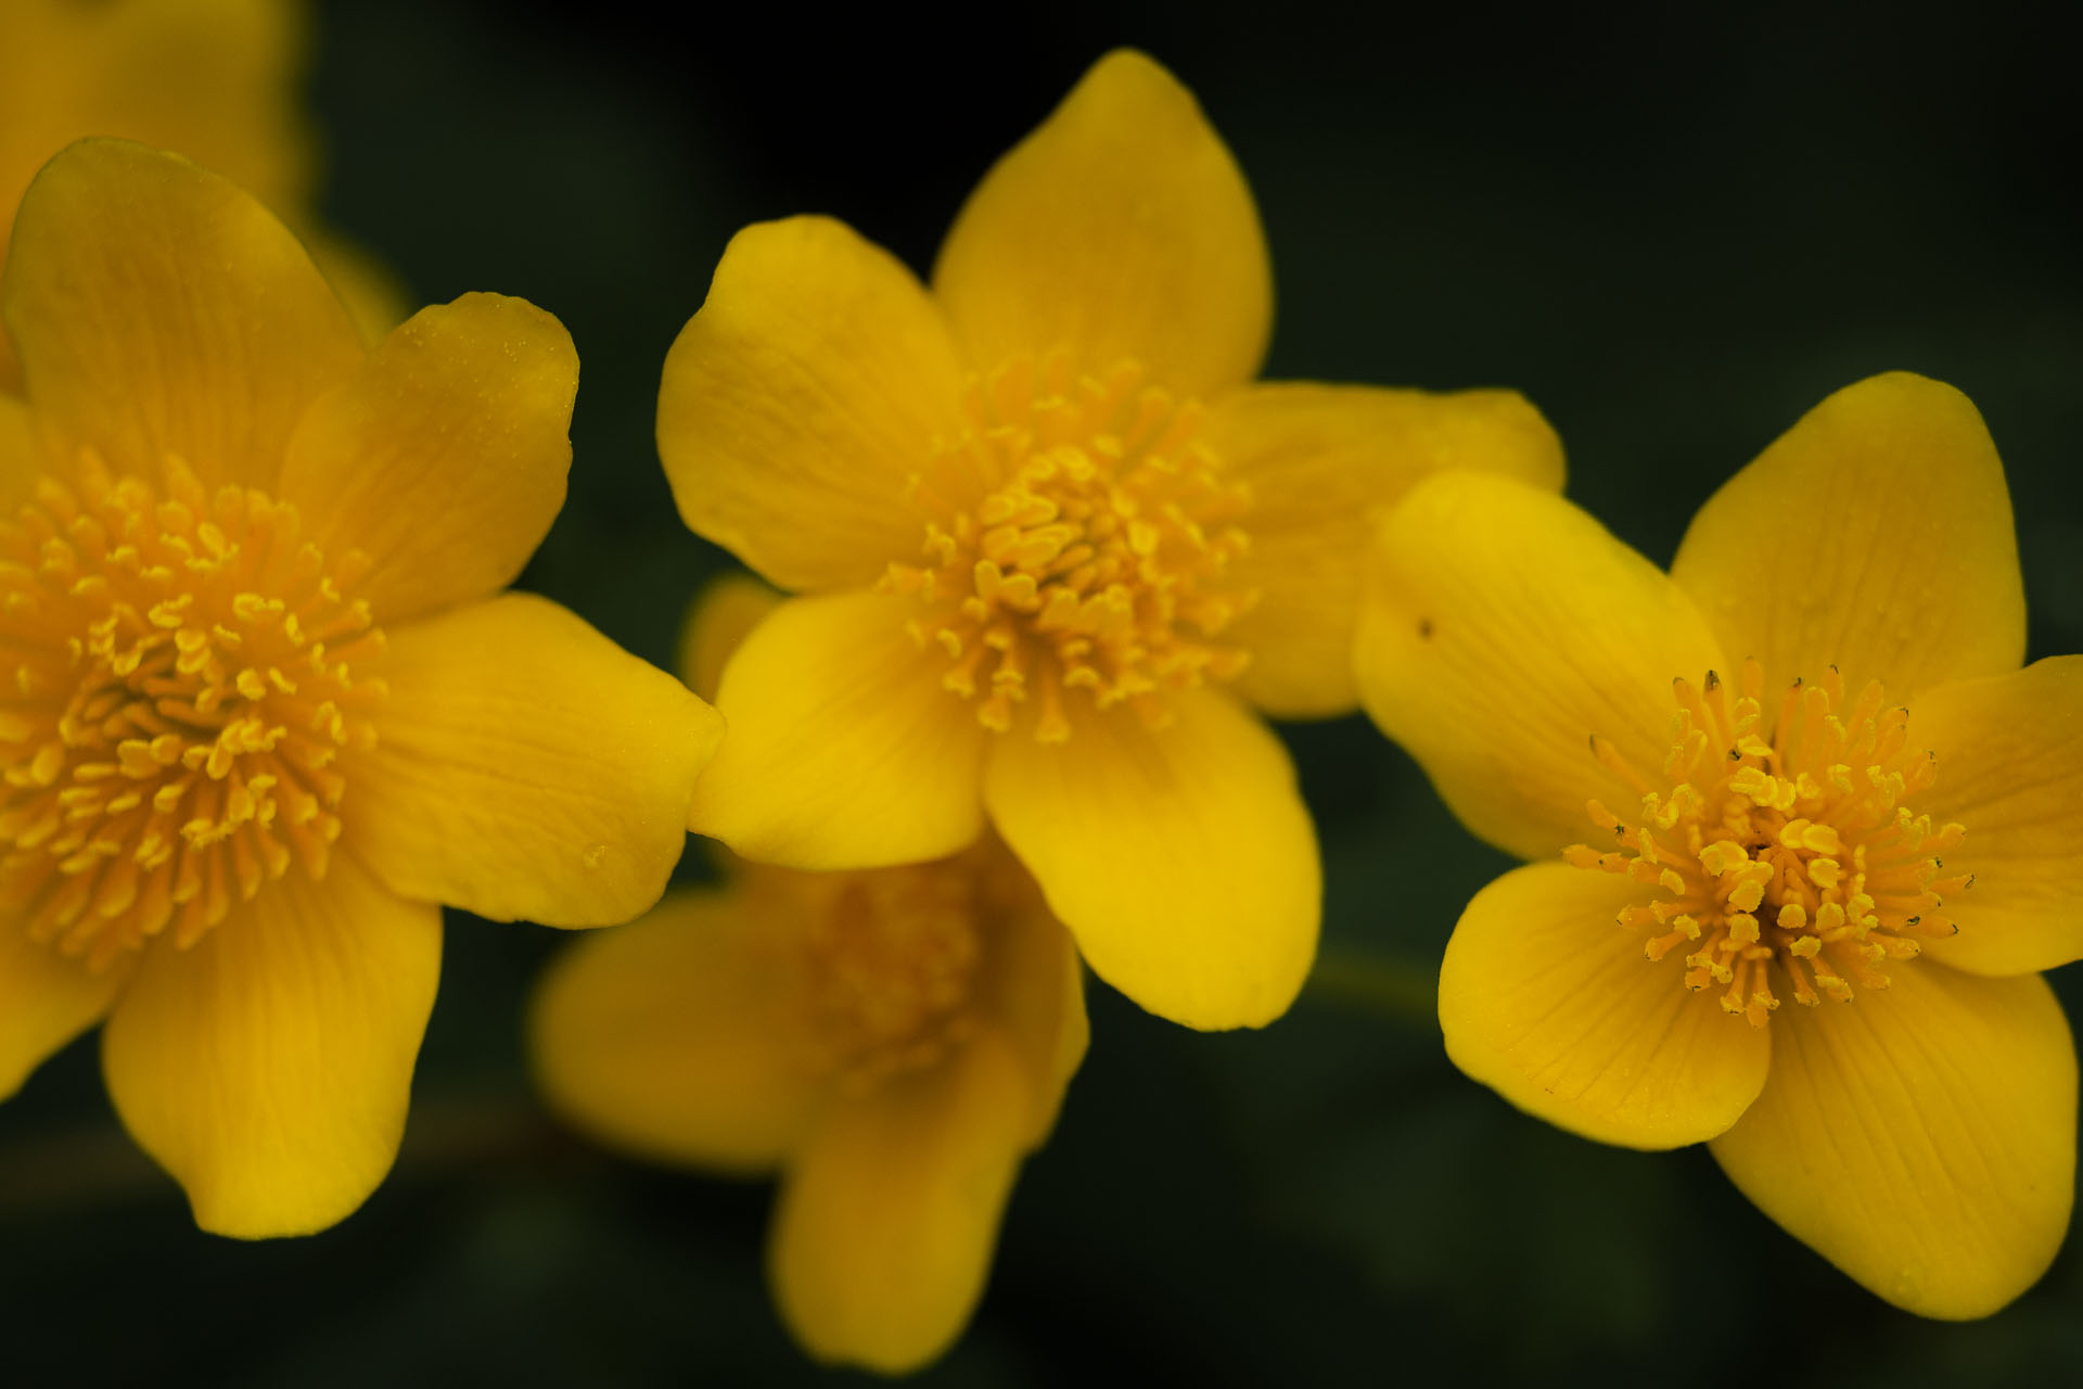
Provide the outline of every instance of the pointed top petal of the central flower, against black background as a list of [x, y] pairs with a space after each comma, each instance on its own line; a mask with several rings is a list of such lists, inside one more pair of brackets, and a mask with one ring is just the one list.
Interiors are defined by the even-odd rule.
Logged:
[[1194, 94], [1133, 50], [1100, 58], [998, 160], [933, 289], [977, 367], [1069, 348], [1206, 396], [1258, 373], [1273, 271], [1252, 192]]

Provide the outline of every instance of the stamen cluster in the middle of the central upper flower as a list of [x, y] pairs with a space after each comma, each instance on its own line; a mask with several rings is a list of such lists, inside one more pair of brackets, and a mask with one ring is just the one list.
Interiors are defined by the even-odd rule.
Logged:
[[1029, 710], [1037, 739], [1062, 741], [1069, 691], [1162, 721], [1164, 691], [1244, 668], [1214, 637], [1256, 600], [1229, 581], [1250, 491], [1196, 437], [1198, 402], [1135, 362], [1081, 375], [1058, 352], [971, 381], [964, 412], [912, 479], [925, 564], [892, 564], [883, 587], [925, 602], [908, 629], [948, 654], [942, 683], [983, 727]]

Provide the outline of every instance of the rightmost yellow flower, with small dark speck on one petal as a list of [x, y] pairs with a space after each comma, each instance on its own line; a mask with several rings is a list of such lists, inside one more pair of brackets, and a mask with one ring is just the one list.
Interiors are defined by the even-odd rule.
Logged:
[[1554, 496], [1414, 489], [1366, 708], [1548, 860], [1454, 929], [1448, 1054], [1585, 1137], [1708, 1141], [1896, 1306], [2002, 1308], [2068, 1227], [2077, 1060], [2033, 970], [2083, 954], [2083, 658], [2023, 658], [2002, 462], [1923, 377], [1816, 406], [1671, 575]]

